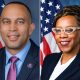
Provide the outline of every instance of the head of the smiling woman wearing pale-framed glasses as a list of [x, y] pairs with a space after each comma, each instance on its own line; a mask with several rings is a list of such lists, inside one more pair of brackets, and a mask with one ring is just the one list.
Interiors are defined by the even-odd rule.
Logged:
[[76, 51], [80, 46], [80, 7], [66, 6], [56, 16], [55, 39], [64, 53]]

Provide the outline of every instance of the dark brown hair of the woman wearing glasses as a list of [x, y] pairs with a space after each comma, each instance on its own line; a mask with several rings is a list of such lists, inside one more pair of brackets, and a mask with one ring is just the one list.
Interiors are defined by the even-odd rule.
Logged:
[[59, 18], [67, 15], [74, 16], [77, 20], [77, 24], [80, 26], [80, 6], [78, 5], [65, 6], [63, 10], [56, 15], [53, 26], [56, 26], [56, 22]]

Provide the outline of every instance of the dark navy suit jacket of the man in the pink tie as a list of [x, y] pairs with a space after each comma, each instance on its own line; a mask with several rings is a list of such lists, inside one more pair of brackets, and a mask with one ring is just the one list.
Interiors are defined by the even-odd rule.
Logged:
[[[0, 50], [0, 80], [5, 80], [5, 48]], [[31, 47], [17, 80], [39, 80], [39, 48], [31, 41]]]

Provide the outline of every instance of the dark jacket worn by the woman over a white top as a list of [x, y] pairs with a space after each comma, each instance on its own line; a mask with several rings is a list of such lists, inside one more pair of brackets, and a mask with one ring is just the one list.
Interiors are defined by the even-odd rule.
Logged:
[[[41, 80], [49, 80], [61, 53], [53, 53], [47, 56], [42, 67]], [[80, 52], [73, 62], [55, 80], [80, 80]]]

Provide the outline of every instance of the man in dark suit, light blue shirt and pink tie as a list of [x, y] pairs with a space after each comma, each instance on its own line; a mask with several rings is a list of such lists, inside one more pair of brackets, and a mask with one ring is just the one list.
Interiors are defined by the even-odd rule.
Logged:
[[11, 2], [4, 7], [0, 32], [5, 48], [0, 50], [0, 80], [39, 80], [39, 48], [30, 40], [34, 29], [25, 4]]

